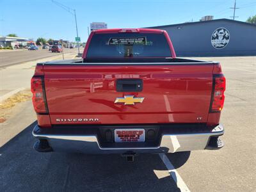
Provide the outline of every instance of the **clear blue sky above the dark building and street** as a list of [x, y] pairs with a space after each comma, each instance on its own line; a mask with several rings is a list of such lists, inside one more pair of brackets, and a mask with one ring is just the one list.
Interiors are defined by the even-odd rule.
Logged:
[[[76, 9], [81, 41], [88, 38], [91, 22], [106, 22], [108, 28], [143, 28], [198, 21], [204, 15], [214, 19], [233, 15], [234, 0], [56, 0]], [[255, 0], [237, 0], [236, 20], [256, 15]], [[74, 41], [74, 16], [51, 0], [0, 0], [0, 35], [16, 33], [26, 38]]]

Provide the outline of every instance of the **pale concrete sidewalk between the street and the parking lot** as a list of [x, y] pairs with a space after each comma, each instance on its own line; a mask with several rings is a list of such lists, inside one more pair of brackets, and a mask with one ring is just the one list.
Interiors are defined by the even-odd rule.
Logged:
[[[76, 56], [76, 53], [65, 54], [65, 60], [70, 60]], [[34, 74], [35, 65], [39, 62], [62, 60], [62, 54], [51, 58], [44, 58], [35, 61], [29, 61], [18, 65], [0, 69], [0, 98], [4, 95], [20, 90], [20, 88], [29, 89], [30, 79]], [[8, 94], [9, 95], [9, 94]]]

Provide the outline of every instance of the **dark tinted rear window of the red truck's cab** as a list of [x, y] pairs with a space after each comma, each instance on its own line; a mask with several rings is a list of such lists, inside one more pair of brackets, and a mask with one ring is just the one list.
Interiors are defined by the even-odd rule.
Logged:
[[87, 58], [170, 57], [170, 48], [163, 34], [107, 33], [95, 34]]

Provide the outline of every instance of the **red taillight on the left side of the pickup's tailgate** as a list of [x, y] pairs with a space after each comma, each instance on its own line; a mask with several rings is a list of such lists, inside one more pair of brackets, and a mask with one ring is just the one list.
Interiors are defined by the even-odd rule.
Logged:
[[31, 92], [33, 93], [33, 106], [36, 113], [48, 113], [44, 92], [44, 81], [41, 76], [34, 76], [31, 79]]

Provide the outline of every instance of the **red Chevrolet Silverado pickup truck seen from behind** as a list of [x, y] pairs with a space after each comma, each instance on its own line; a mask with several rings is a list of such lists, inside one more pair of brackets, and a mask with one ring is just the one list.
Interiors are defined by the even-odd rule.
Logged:
[[223, 147], [220, 63], [176, 58], [163, 30], [93, 31], [82, 59], [38, 63], [31, 91], [38, 152], [132, 159]]

